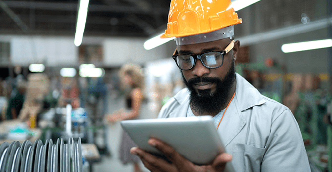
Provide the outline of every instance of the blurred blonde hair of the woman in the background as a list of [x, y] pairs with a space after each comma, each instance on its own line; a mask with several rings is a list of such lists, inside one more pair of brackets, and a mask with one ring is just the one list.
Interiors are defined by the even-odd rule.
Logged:
[[118, 74], [121, 81], [123, 80], [125, 75], [129, 75], [132, 80], [133, 87], [139, 87], [141, 90], [144, 89], [144, 77], [141, 72], [141, 67], [139, 65], [126, 64], [120, 68]]

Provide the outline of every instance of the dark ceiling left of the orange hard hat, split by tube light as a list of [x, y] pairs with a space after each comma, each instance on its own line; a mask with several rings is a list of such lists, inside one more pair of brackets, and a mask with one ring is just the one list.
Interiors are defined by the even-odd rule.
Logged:
[[[0, 0], [0, 34], [74, 36], [79, 0]], [[90, 0], [84, 36], [148, 38], [166, 29], [170, 0]]]

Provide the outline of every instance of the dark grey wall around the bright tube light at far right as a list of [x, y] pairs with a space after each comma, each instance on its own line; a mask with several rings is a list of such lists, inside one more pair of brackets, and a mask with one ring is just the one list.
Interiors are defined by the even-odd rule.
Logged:
[[273, 41], [250, 45], [250, 62], [264, 63], [266, 58], [277, 60], [288, 73], [327, 73], [329, 48], [283, 53], [281, 45], [327, 39], [327, 29], [293, 35]]

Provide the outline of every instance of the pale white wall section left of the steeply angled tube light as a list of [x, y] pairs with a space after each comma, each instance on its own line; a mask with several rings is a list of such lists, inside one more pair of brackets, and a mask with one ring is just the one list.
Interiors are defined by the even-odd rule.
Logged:
[[77, 48], [70, 38], [58, 37], [13, 37], [10, 54], [13, 65], [45, 63], [49, 66], [75, 64]]

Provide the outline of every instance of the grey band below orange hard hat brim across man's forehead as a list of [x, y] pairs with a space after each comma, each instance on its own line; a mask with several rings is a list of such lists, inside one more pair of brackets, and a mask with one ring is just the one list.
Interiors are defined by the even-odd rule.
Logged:
[[229, 39], [232, 39], [233, 36], [234, 36], [234, 25], [231, 25], [208, 33], [190, 35], [185, 37], [176, 37], [175, 41], [176, 45], [187, 45], [194, 43], [207, 43], [228, 37]]

